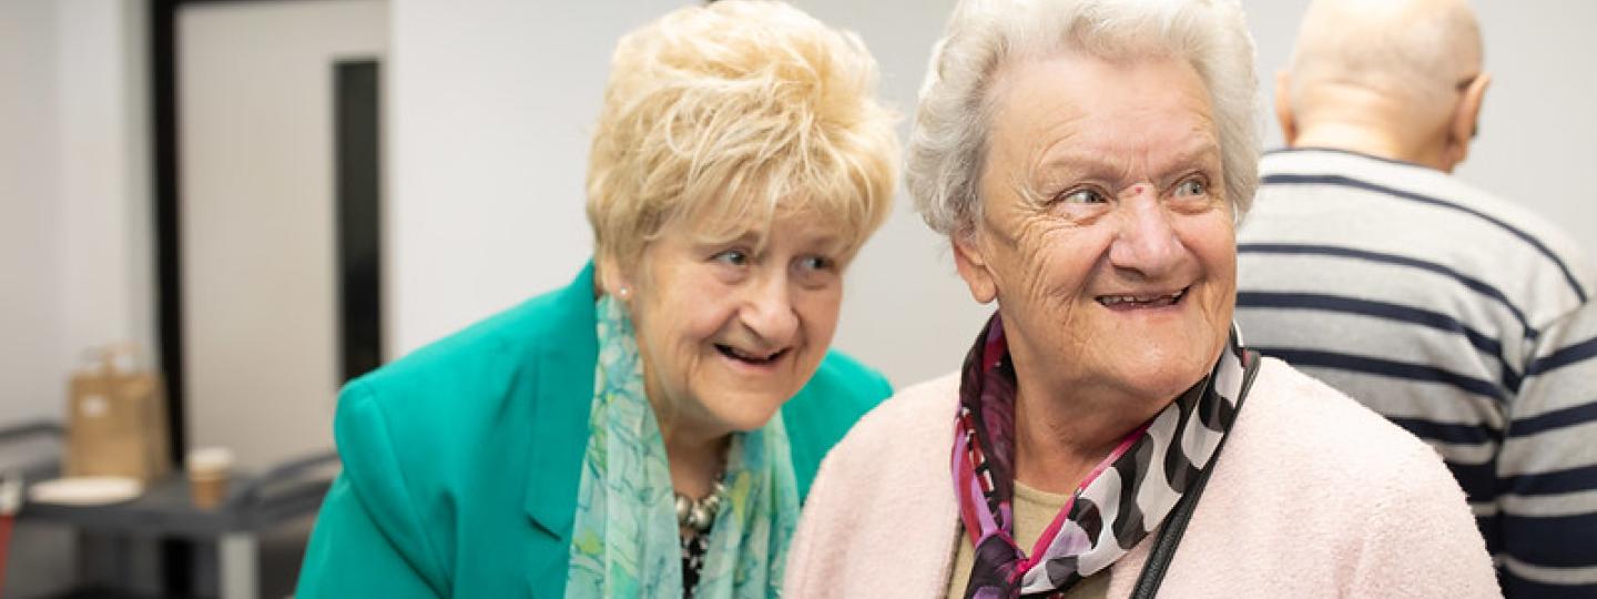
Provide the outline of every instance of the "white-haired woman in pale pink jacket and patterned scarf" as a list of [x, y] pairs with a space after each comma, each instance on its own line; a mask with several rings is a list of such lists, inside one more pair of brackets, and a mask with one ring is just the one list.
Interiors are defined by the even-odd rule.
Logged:
[[997, 313], [821, 466], [794, 597], [1495, 596], [1436, 452], [1231, 326], [1234, 0], [971, 0], [907, 179]]

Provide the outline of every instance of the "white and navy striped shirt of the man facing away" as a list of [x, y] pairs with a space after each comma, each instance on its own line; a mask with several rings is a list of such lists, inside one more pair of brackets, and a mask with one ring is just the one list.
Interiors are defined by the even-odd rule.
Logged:
[[1238, 232], [1250, 347], [1436, 447], [1504, 594], [1597, 597], [1587, 256], [1524, 208], [1417, 165], [1282, 150], [1260, 176]]

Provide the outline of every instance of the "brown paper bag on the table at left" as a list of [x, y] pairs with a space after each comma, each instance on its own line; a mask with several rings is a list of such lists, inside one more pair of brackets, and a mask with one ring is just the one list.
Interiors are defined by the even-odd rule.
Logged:
[[136, 366], [128, 345], [96, 351], [67, 393], [67, 476], [128, 476], [145, 484], [171, 471], [166, 391]]

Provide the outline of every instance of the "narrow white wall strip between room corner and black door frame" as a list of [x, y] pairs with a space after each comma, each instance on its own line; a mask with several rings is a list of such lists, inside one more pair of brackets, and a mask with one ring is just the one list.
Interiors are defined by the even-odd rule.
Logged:
[[133, 342], [155, 366], [147, 8], [134, 0], [54, 6], [62, 350], [77, 364], [88, 348]]

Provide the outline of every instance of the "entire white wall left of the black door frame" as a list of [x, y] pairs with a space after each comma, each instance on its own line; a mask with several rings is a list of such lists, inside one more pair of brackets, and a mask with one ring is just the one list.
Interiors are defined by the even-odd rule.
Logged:
[[0, 2], [0, 425], [61, 419], [83, 350], [155, 347], [144, 13]]

